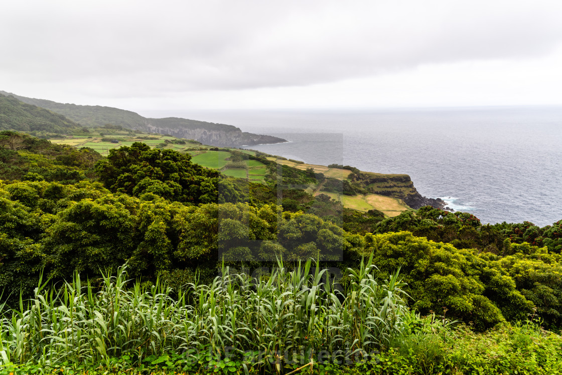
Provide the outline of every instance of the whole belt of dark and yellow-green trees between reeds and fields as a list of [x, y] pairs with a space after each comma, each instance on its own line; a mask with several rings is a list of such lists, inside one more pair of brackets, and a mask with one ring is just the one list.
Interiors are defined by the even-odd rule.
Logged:
[[[562, 325], [561, 222], [483, 226], [471, 214], [431, 207], [383, 219], [295, 189], [314, 186], [315, 173], [261, 157], [248, 162], [268, 165], [267, 184], [227, 179], [187, 154], [140, 143], [104, 159], [88, 148], [0, 135], [0, 157], [9, 161], [2, 173], [13, 180], [0, 185], [0, 287], [10, 304], [20, 290], [33, 291], [42, 268], [59, 282], [75, 270], [96, 278], [100, 267], [129, 262], [130, 274], [149, 285], [158, 272], [192, 280], [197, 266], [208, 278], [220, 259], [260, 267], [279, 256], [314, 257], [356, 267], [372, 253], [380, 278], [402, 267], [409, 303], [423, 314], [446, 309], [483, 330], [536, 309], [545, 327]], [[106, 188], [88, 181], [94, 171]]]

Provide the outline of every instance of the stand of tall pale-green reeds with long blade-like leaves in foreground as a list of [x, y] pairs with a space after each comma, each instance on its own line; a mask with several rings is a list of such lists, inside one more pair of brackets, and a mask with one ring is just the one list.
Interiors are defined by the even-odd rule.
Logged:
[[126, 266], [96, 288], [78, 274], [58, 289], [39, 282], [19, 309], [0, 306], [0, 363], [103, 364], [122, 355], [140, 363], [198, 349], [238, 358], [260, 352], [255, 365], [269, 366], [273, 358], [279, 367], [322, 350], [335, 359], [369, 353], [407, 330], [411, 314], [398, 272], [379, 284], [371, 257], [358, 271], [348, 269], [351, 282], [338, 290], [311, 265], [289, 272], [278, 261], [277, 271], [254, 279], [223, 266], [210, 285], [179, 291], [158, 280], [150, 290], [139, 282], [128, 288]]

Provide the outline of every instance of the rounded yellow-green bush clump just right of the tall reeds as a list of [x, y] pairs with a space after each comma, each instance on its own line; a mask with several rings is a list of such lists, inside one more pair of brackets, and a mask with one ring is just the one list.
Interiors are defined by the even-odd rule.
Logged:
[[414, 307], [422, 313], [442, 312], [478, 330], [505, 318], [523, 319], [533, 304], [517, 290], [500, 267], [485, 262], [470, 250], [434, 243], [410, 232], [377, 235], [370, 240], [375, 263], [383, 272], [402, 266]]

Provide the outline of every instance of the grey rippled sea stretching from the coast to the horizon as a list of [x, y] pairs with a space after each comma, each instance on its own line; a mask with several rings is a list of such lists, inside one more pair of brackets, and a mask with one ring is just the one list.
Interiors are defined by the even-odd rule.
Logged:
[[251, 148], [307, 163], [406, 173], [420, 194], [482, 223], [562, 219], [562, 107], [141, 114], [279, 136], [290, 142]]

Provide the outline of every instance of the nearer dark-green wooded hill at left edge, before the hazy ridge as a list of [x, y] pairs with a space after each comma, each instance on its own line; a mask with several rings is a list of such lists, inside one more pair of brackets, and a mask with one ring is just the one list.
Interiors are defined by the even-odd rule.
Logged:
[[0, 130], [66, 133], [81, 127], [64, 115], [1, 93], [3, 92], [0, 92]]

